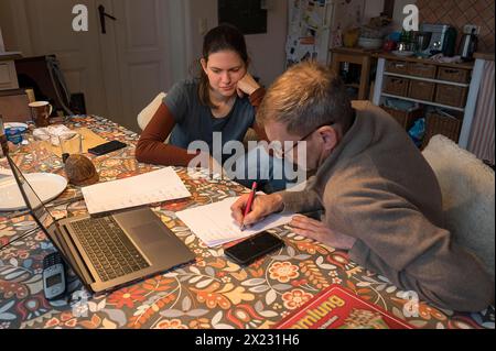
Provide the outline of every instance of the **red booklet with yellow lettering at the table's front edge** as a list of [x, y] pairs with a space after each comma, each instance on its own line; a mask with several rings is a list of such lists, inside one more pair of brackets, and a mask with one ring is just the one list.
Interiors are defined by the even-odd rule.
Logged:
[[274, 329], [413, 329], [339, 285], [331, 285]]

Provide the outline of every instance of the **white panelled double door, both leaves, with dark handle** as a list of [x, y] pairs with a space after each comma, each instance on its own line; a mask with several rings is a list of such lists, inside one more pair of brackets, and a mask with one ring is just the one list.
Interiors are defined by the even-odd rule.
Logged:
[[[181, 22], [183, 6], [177, 0], [10, 1], [25, 13], [26, 23], [17, 25], [29, 29], [30, 54], [57, 56], [71, 92], [84, 92], [87, 112], [139, 131], [139, 111], [172, 85], [171, 57], [184, 54], [170, 45], [171, 23]], [[87, 32], [72, 29], [76, 4], [88, 9]], [[100, 6], [116, 18], [106, 18], [106, 34]]]

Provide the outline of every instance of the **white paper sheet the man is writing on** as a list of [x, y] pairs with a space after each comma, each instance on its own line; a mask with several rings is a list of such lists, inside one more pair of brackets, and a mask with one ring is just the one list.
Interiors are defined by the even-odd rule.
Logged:
[[233, 197], [219, 202], [204, 205], [176, 212], [179, 219], [186, 224], [208, 248], [247, 238], [267, 229], [287, 224], [293, 215], [271, 215], [250, 229], [241, 231], [230, 216], [230, 206], [238, 198]]

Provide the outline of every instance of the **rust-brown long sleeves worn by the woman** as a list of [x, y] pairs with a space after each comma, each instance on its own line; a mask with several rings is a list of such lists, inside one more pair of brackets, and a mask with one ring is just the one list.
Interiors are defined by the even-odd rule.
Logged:
[[[265, 95], [263, 88], [254, 91], [249, 97], [251, 106], [258, 108]], [[164, 166], [187, 166], [197, 154], [188, 154], [185, 149], [164, 144], [174, 125], [174, 117], [165, 103], [161, 103], [159, 110], [141, 133], [136, 149], [136, 158], [139, 162]], [[254, 123], [252, 128], [260, 140], [267, 140], [263, 128], [260, 128], [257, 122]]]

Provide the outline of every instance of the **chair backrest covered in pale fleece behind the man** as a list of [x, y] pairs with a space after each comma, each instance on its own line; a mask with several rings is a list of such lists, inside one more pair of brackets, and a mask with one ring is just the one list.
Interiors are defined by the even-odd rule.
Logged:
[[483, 261], [494, 281], [494, 171], [442, 135], [434, 135], [422, 154], [441, 187], [446, 229]]

